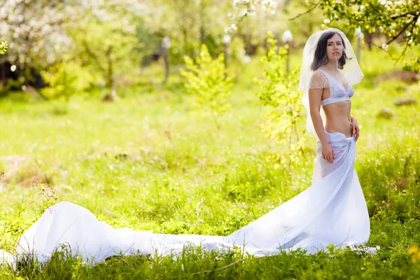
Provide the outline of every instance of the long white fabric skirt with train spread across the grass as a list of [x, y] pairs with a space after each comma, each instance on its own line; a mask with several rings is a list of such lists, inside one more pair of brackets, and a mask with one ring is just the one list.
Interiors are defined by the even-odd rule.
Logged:
[[[202, 246], [227, 251], [241, 246], [253, 255], [272, 255], [282, 250], [306, 249], [308, 253], [325, 250], [328, 244], [351, 246], [365, 244], [370, 221], [365, 197], [354, 169], [356, 139], [326, 132], [335, 160], [323, 160], [317, 141], [312, 185], [276, 209], [226, 237], [212, 235], [166, 235], [151, 230], [114, 229], [98, 221], [87, 209], [59, 202], [20, 237], [17, 255], [0, 252], [0, 261], [13, 262], [31, 254], [45, 262], [55, 250], [66, 246], [90, 263], [111, 255], [180, 253], [184, 246]], [[379, 247], [365, 248], [374, 252]]]

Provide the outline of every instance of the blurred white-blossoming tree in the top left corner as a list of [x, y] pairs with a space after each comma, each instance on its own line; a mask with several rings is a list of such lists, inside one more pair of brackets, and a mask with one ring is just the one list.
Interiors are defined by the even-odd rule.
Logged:
[[5, 63], [16, 65], [23, 83], [43, 84], [38, 69], [55, 62], [69, 46], [64, 23], [73, 9], [59, 2], [6, 0], [0, 4], [0, 38], [9, 42], [8, 54], [0, 59], [2, 83]]

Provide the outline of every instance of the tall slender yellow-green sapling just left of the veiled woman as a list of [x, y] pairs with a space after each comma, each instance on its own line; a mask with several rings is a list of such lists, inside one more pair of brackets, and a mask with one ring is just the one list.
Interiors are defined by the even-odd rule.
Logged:
[[[299, 121], [302, 119], [302, 92], [299, 84], [299, 69], [290, 74], [286, 71], [288, 61], [288, 45], [278, 48], [277, 40], [268, 32], [267, 43], [271, 45], [267, 55], [262, 57], [265, 65], [264, 79], [255, 78], [262, 88], [259, 97], [265, 106], [272, 110], [265, 116], [267, 120], [262, 124], [262, 131], [270, 139], [278, 141], [280, 150], [269, 156], [281, 167], [291, 167], [300, 161], [303, 153], [304, 137], [299, 132]], [[282, 147], [286, 146], [286, 150]]]

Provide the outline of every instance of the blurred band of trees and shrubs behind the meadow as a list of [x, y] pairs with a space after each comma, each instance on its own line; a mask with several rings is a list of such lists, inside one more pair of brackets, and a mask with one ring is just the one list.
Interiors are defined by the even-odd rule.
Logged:
[[[235, 73], [237, 82], [247, 64], [267, 52], [267, 31], [272, 31], [278, 45], [288, 43], [292, 56], [300, 55], [314, 31], [329, 26], [341, 28], [358, 55], [361, 50], [375, 50], [388, 41], [393, 33], [388, 32], [387, 25], [399, 31], [395, 22], [384, 18], [376, 22], [369, 18], [368, 22], [372, 11], [360, 15], [366, 22], [353, 22], [354, 15], [337, 9], [335, 4], [328, 6], [328, 1], [2, 2], [0, 40], [8, 41], [8, 52], [0, 58], [2, 97], [23, 90], [42, 99], [69, 98], [94, 89], [114, 97], [124, 95], [126, 87], [134, 85], [144, 89], [174, 85], [182, 82], [179, 69], [184, 66], [183, 57], [196, 59], [202, 44], [211, 57], [225, 53], [226, 65]], [[386, 1], [376, 2], [386, 7]], [[414, 13], [415, 8], [409, 9]], [[301, 16], [295, 18], [297, 15]], [[360, 26], [363, 31], [359, 31], [361, 38], [356, 41], [355, 31]], [[414, 27], [418, 29], [418, 23]], [[406, 27], [396, 40], [408, 41], [408, 32]], [[299, 60], [292, 60], [290, 66], [297, 66]], [[392, 63], [391, 58], [388, 63]], [[414, 73], [402, 75], [416, 79]]]

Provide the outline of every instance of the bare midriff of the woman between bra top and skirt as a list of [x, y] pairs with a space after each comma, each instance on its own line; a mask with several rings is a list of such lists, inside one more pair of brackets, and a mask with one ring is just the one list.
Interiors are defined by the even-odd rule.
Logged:
[[[327, 95], [329, 96], [330, 92], [327, 92]], [[325, 112], [326, 117], [325, 130], [327, 132], [341, 132], [346, 137], [352, 136], [350, 100], [342, 100], [339, 102], [326, 104], [323, 106], [323, 111]]]

